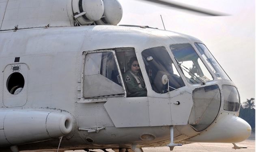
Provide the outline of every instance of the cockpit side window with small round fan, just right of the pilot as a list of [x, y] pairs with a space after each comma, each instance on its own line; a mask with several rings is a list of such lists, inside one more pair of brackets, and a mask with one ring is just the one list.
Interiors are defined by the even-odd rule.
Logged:
[[165, 47], [146, 49], [142, 51], [142, 58], [151, 87], [156, 93], [168, 92], [168, 84], [162, 83], [163, 75], [169, 79], [170, 91], [185, 86]]

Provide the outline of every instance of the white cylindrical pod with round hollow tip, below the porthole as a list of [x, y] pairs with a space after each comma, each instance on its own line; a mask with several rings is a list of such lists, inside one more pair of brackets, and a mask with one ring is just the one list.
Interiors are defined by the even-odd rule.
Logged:
[[[74, 132], [70, 114], [40, 110], [2, 110], [0, 147], [44, 141]], [[5, 113], [5, 114], [4, 114]]]

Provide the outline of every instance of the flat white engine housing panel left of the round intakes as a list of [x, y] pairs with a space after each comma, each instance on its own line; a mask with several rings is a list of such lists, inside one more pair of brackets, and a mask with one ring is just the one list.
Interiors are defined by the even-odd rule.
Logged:
[[71, 26], [67, 3], [63, 3], [62, 0], [9, 0], [6, 9], [3, 10], [5, 12], [1, 20], [1, 30], [12, 30], [15, 26], [18, 29], [47, 27], [47, 24], [51, 27]]

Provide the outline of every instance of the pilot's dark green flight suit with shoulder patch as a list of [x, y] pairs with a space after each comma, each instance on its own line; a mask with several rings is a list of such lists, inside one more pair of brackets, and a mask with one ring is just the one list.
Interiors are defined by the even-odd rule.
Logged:
[[[138, 74], [138, 73], [137, 73]], [[137, 80], [136, 78], [137, 77]], [[147, 90], [144, 80], [139, 75], [134, 74], [131, 70], [125, 72], [125, 82], [129, 97], [146, 97]]]

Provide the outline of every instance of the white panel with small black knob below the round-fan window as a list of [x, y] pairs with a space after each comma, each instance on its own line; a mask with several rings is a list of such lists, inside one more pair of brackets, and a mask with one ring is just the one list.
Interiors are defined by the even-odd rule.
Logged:
[[174, 97], [148, 97], [150, 126], [187, 125], [193, 106], [191, 93]]

